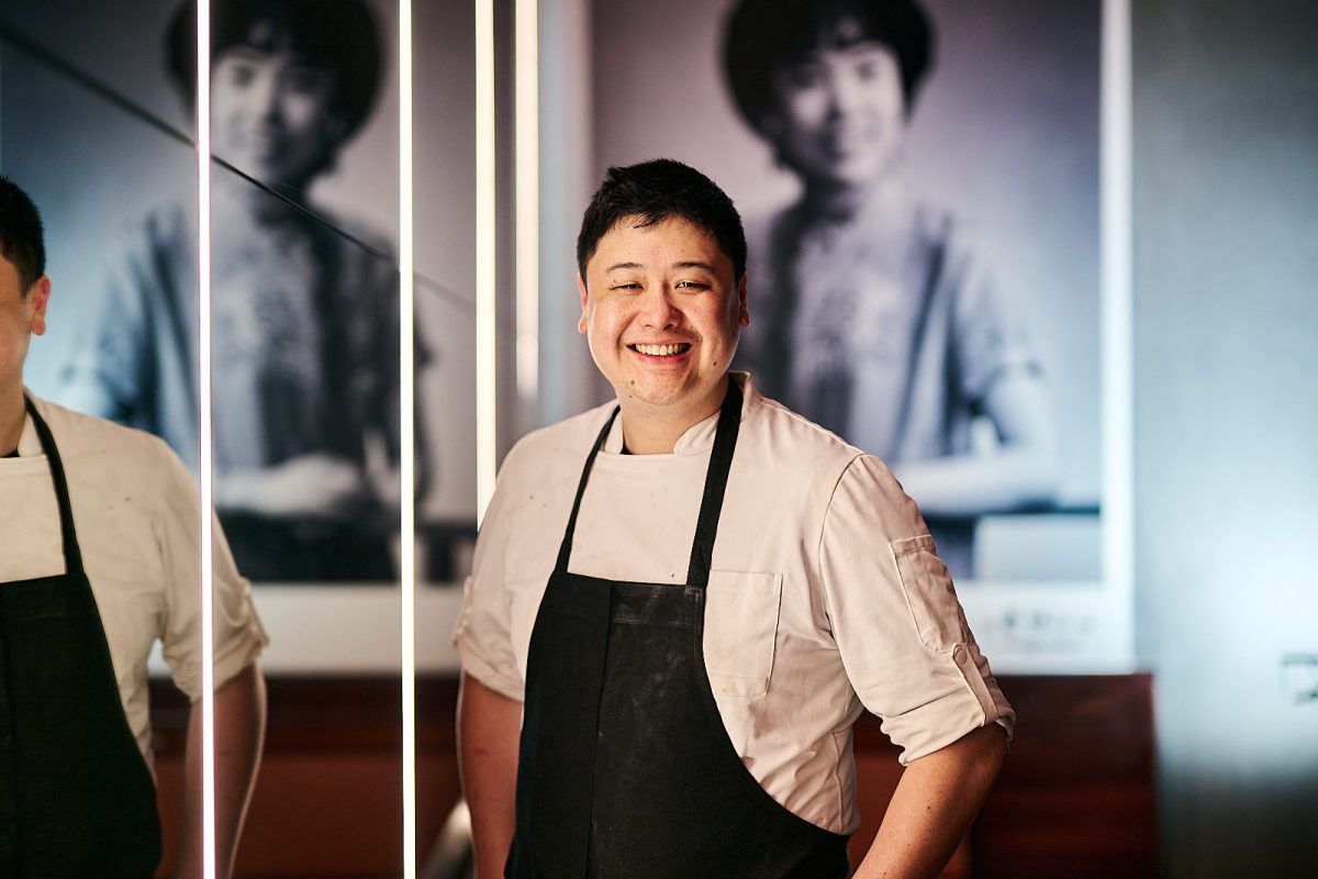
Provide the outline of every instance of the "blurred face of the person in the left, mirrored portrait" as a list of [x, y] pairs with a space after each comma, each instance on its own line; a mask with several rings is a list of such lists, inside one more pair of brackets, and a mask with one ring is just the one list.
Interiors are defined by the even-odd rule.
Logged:
[[344, 136], [331, 71], [286, 49], [235, 46], [211, 76], [215, 152], [264, 183], [302, 188]]

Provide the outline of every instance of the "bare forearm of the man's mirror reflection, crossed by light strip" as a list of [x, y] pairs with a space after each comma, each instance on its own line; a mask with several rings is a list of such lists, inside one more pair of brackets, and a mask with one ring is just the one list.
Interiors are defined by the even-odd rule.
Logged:
[[[265, 679], [257, 663], [215, 691], [215, 875], [233, 870], [243, 818], [246, 813], [261, 745], [265, 739]], [[202, 702], [192, 705], [187, 723], [183, 836], [174, 875], [202, 875]]]

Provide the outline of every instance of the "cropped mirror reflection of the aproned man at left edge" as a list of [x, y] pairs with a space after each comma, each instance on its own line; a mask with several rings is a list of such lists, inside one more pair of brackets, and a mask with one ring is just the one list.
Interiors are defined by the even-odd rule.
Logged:
[[[177, 875], [202, 875], [199, 497], [157, 438], [26, 393], [51, 285], [36, 206], [0, 177], [0, 876], [152, 876], [146, 660], [192, 700]], [[265, 727], [250, 588], [215, 539], [216, 832], [227, 876]]]

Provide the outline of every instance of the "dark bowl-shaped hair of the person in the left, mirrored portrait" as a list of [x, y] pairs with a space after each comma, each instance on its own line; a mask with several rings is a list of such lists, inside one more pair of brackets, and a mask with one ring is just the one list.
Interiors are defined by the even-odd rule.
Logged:
[[[211, 7], [211, 61], [235, 46], [289, 49], [331, 71], [344, 140], [361, 128], [380, 91], [380, 29], [364, 0], [224, 0]], [[179, 5], [166, 34], [174, 86], [196, 100], [196, 4]]]

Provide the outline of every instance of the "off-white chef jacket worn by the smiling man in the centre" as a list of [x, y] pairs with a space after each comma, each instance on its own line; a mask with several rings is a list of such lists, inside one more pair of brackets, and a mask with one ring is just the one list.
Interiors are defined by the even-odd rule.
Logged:
[[[1015, 713], [966, 625], [920, 511], [875, 457], [766, 399], [743, 373], [741, 432], [705, 606], [710, 687], [733, 747], [775, 800], [836, 833], [859, 825], [862, 706], [908, 763]], [[527, 647], [581, 467], [614, 403], [523, 438], [503, 461], [455, 626], [463, 669], [523, 698]], [[717, 414], [671, 455], [590, 472], [568, 569], [685, 580]]]

